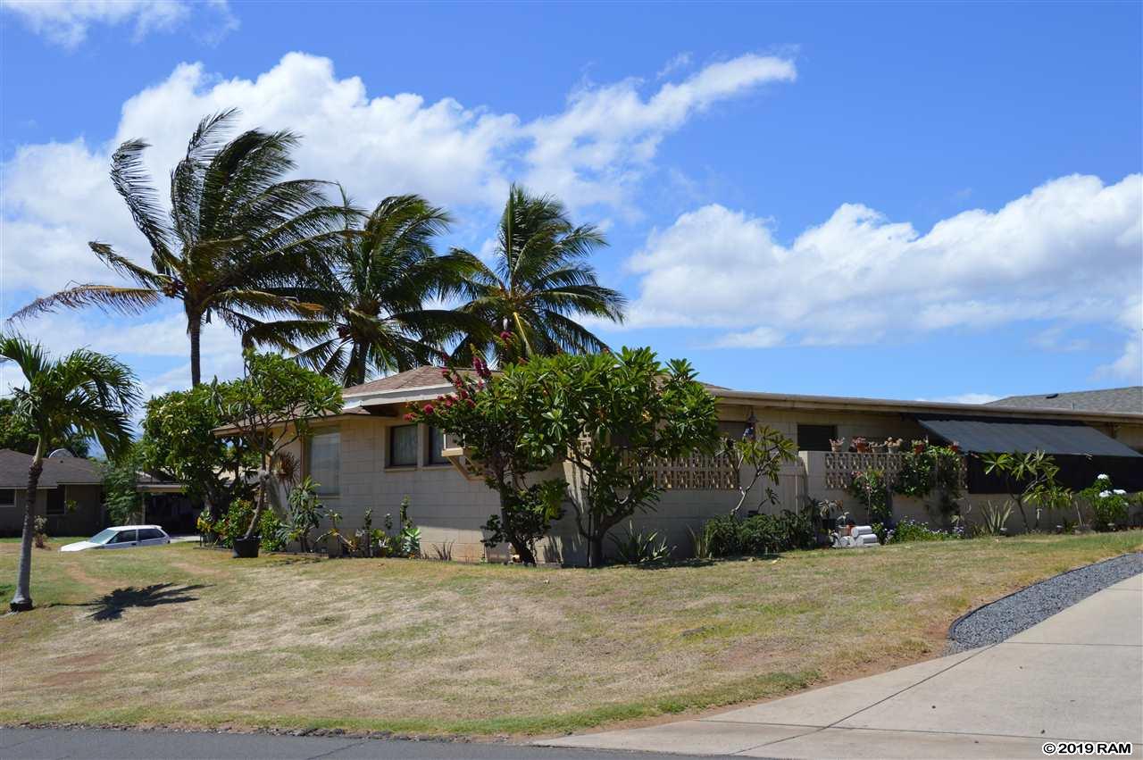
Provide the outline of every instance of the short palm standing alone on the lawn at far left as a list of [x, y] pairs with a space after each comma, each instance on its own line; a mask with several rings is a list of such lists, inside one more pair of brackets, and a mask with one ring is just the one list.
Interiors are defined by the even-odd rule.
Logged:
[[86, 349], [53, 361], [39, 344], [0, 335], [0, 361], [13, 361], [24, 373], [27, 386], [13, 390], [14, 414], [39, 439], [27, 469], [19, 571], [9, 603], [13, 611], [24, 611], [32, 609], [32, 536], [43, 453], [69, 435], [80, 434], [94, 438], [110, 458], [117, 458], [131, 443], [129, 414], [139, 391], [125, 365]]

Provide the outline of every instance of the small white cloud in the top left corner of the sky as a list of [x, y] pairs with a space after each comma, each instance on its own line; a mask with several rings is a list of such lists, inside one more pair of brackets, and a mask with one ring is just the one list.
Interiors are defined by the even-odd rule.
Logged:
[[211, 11], [214, 27], [205, 40], [214, 42], [238, 29], [238, 19], [226, 0], [192, 3], [186, 0], [3, 0], [7, 11], [17, 15], [32, 32], [64, 48], [74, 49], [97, 24], [131, 24], [135, 40], [152, 32], [170, 32], [183, 25], [197, 8]]

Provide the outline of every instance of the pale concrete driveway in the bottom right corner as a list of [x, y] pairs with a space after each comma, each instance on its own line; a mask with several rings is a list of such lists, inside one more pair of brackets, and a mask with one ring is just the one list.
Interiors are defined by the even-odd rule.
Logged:
[[546, 739], [756, 758], [1042, 758], [1143, 743], [1143, 575], [991, 647], [698, 720]]

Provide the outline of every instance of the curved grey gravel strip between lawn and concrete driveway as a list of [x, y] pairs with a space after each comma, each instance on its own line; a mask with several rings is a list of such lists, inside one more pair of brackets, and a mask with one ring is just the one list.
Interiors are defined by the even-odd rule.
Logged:
[[999, 643], [1096, 591], [1143, 573], [1143, 552], [1069, 570], [980, 607], [949, 626], [949, 654]]

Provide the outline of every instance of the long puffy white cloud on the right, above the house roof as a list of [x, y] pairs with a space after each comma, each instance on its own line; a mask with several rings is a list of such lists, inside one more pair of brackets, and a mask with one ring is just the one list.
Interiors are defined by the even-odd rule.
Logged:
[[766, 218], [704, 206], [653, 231], [631, 258], [640, 286], [628, 323], [728, 328], [717, 344], [736, 347], [780, 335], [822, 345], [1023, 320], [1096, 323], [1132, 333], [1106, 373], [1137, 379], [1141, 205], [1141, 175], [1109, 185], [1074, 175], [924, 234], [846, 203], [790, 245]]

